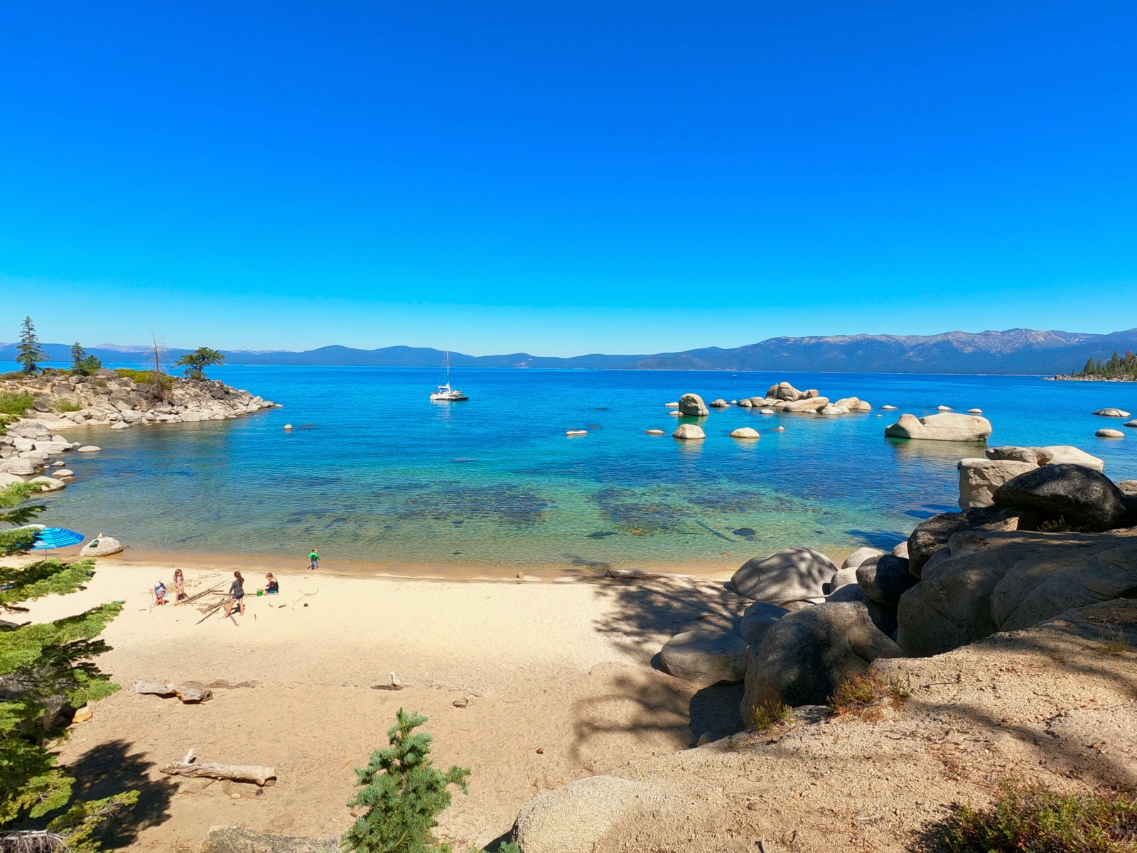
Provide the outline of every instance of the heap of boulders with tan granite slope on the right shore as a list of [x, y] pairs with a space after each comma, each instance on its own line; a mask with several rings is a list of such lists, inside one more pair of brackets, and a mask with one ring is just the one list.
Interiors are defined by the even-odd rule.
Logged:
[[[808, 548], [749, 560], [735, 616], [664, 646], [665, 672], [741, 681], [741, 719], [772, 727], [695, 730], [699, 748], [541, 794], [514, 826], [522, 852], [741, 853], [792, 837], [899, 853], [951, 803], [987, 802], [991, 778], [1137, 786], [1137, 481], [1113, 483], [1074, 448], [966, 462], [998, 463], [961, 481], [961, 506], [965, 488], [987, 505], [840, 566]], [[872, 722], [825, 706], [864, 676]]]

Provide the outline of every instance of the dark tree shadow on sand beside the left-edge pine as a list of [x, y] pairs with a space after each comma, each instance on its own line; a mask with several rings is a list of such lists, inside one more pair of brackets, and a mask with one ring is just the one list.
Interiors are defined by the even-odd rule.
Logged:
[[78, 760], [67, 765], [75, 777], [72, 802], [102, 800], [103, 797], [136, 790], [139, 800], [133, 808], [108, 821], [100, 840], [108, 850], [122, 850], [138, 840], [139, 833], [161, 825], [169, 818], [169, 803], [177, 784], [169, 778], [151, 779], [153, 762], [141, 753], [132, 753], [125, 740], [111, 740], [92, 746]]

